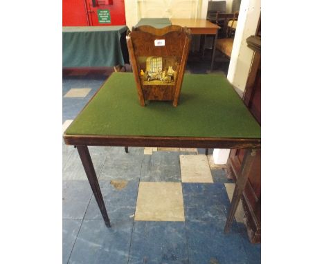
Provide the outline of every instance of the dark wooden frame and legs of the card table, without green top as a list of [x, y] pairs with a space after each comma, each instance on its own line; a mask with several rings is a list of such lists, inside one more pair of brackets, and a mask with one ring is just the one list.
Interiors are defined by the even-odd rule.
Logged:
[[[115, 77], [118, 73], [114, 73]], [[119, 73], [127, 75], [127, 73]], [[186, 75], [185, 75], [186, 76]], [[111, 78], [111, 77], [110, 77]], [[109, 78], [109, 79], [110, 79]], [[106, 85], [108, 81], [102, 85], [99, 91]], [[115, 78], [116, 79], [116, 78]], [[136, 90], [134, 84], [134, 91]], [[98, 92], [99, 92], [98, 91]], [[93, 95], [91, 100], [98, 94]], [[135, 92], [136, 93], [136, 92]], [[135, 98], [137, 99], [137, 98]], [[91, 100], [84, 109], [87, 108]], [[142, 107], [142, 106], [141, 106]], [[148, 107], [148, 106], [145, 106]], [[170, 106], [172, 108], [172, 106]], [[179, 107], [179, 106], [178, 106]], [[83, 111], [83, 110], [82, 110]], [[231, 202], [231, 209], [228, 212], [228, 218], [224, 228], [228, 232], [237, 205], [245, 189], [249, 171], [252, 168], [253, 156], [256, 151], [261, 148], [260, 138], [224, 138], [224, 137], [177, 137], [177, 136], [136, 136], [136, 135], [80, 135], [80, 134], [66, 134], [64, 133], [64, 142], [68, 145], [74, 145], [78, 149], [80, 159], [82, 161], [84, 171], [89, 180], [89, 184], [96, 198], [98, 207], [101, 211], [102, 218], [105, 220], [107, 227], [111, 227], [109, 216], [105, 207], [105, 202], [102, 198], [96, 171], [93, 167], [88, 146], [115, 146], [115, 147], [183, 147], [183, 148], [213, 148], [213, 149], [248, 149], [244, 154], [242, 161], [242, 168], [237, 171], [237, 182]]]

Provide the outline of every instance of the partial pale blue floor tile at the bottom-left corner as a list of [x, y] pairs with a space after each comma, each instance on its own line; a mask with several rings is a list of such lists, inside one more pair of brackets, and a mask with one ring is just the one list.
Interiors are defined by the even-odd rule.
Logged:
[[78, 236], [78, 232], [81, 226], [81, 219], [63, 219], [63, 244], [62, 244], [62, 252], [63, 252], [63, 261], [62, 263], [66, 264], [69, 261], [70, 254], [73, 249], [73, 245], [75, 243], [75, 239]]

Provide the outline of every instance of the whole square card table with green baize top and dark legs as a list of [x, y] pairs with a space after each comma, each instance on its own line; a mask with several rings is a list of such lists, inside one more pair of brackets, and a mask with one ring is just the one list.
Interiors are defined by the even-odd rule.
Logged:
[[[77, 147], [107, 227], [110, 220], [88, 146], [247, 149], [228, 211], [225, 232], [245, 189], [253, 156], [261, 147], [260, 125], [222, 75], [184, 75], [180, 101], [138, 102], [133, 73], [113, 73], [64, 133]], [[236, 174], [236, 173], [235, 173]]]

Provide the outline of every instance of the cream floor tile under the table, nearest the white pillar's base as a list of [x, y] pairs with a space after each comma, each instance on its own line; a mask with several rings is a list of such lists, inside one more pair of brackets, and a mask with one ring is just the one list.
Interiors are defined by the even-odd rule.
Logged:
[[206, 155], [180, 155], [182, 182], [213, 182]]

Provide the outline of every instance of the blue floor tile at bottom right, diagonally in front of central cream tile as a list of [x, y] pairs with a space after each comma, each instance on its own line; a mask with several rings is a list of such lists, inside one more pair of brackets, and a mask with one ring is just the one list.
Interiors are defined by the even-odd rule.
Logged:
[[248, 264], [240, 234], [224, 233], [216, 223], [186, 221], [191, 264]]

